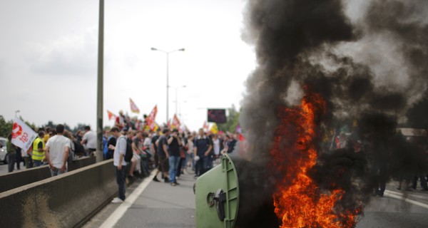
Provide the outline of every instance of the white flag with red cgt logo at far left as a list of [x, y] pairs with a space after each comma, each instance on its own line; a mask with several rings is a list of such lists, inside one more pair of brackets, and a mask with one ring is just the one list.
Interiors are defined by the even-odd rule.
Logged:
[[34, 132], [24, 121], [15, 117], [14, 127], [12, 129], [12, 144], [26, 152], [31, 147], [31, 143], [36, 139], [37, 133]]

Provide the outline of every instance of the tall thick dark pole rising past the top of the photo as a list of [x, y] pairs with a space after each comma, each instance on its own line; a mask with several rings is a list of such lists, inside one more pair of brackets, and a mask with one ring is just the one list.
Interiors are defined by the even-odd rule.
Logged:
[[103, 160], [103, 56], [104, 56], [104, 0], [100, 0], [98, 21], [98, 93], [96, 108], [96, 162]]

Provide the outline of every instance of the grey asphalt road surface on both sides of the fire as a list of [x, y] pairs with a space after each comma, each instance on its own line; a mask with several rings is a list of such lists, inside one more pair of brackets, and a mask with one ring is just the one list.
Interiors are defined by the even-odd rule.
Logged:
[[[181, 185], [178, 187], [162, 182], [148, 183], [126, 212], [115, 220], [115, 224], [108, 224], [108, 227], [196, 227], [195, 198], [192, 192], [195, 181], [192, 175], [184, 175], [179, 181]], [[131, 185], [127, 195], [140, 183], [138, 181]], [[387, 185], [384, 197], [372, 197], [364, 216], [360, 217], [358, 228], [428, 227], [428, 193], [420, 190], [399, 192], [395, 187], [392, 182]], [[101, 227], [117, 208], [118, 204], [108, 204], [85, 227]]]

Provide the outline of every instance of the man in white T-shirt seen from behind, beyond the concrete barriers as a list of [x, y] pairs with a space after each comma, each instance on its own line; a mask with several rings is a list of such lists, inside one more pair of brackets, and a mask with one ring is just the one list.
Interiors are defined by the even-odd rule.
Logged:
[[52, 177], [67, 172], [68, 152], [70, 140], [63, 136], [64, 125], [56, 125], [56, 135], [46, 142], [45, 156], [51, 168]]

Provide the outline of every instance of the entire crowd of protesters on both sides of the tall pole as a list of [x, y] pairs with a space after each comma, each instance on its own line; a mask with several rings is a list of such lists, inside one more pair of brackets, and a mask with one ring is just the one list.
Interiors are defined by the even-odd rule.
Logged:
[[[6, 145], [9, 172], [14, 171], [15, 165], [20, 170], [24, 162], [27, 169], [48, 165], [52, 176], [61, 175], [73, 160], [96, 155], [97, 136], [90, 126], [74, 133], [61, 124], [33, 130], [38, 136], [27, 151], [14, 146], [9, 135]], [[213, 134], [203, 129], [190, 132], [169, 125], [150, 130], [144, 121], [120, 112], [113, 128], [104, 130], [101, 146], [103, 159], [113, 159], [116, 167], [119, 195], [113, 202], [123, 202], [126, 185], [136, 178], [148, 177], [155, 169], [153, 180], [171, 186], [180, 185], [178, 179], [185, 172], [198, 178], [220, 164], [221, 154], [233, 152], [238, 137], [234, 133]]]

